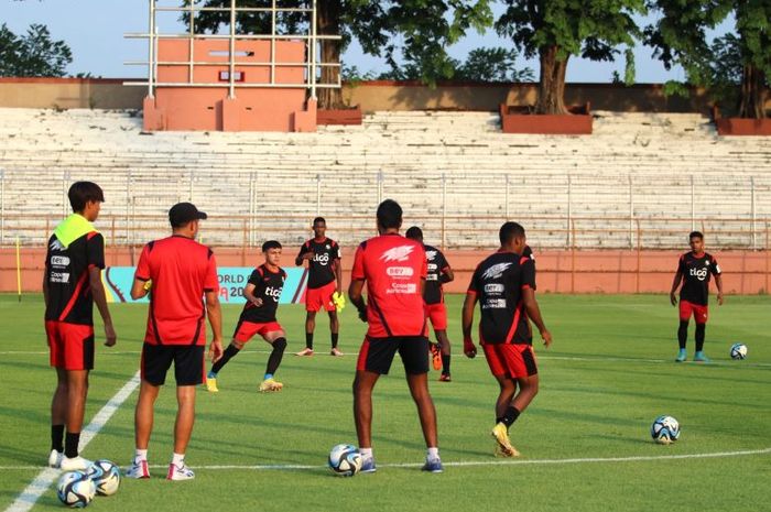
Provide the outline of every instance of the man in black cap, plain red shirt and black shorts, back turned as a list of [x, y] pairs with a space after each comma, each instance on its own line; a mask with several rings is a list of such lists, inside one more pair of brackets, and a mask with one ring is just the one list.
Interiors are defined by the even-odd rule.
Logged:
[[153, 429], [155, 400], [172, 362], [177, 412], [174, 454], [166, 479], [195, 478], [185, 464], [185, 451], [195, 422], [195, 389], [206, 374], [206, 316], [213, 336], [209, 357], [217, 361], [222, 356], [217, 262], [211, 249], [195, 241], [203, 219], [206, 219], [206, 214], [198, 211], [193, 204], [174, 205], [169, 210], [172, 236], [144, 246], [134, 273], [131, 297], [139, 299], [150, 294], [150, 307], [142, 346], [142, 382], [134, 412], [137, 451], [127, 471], [129, 478], [150, 478], [148, 444]]

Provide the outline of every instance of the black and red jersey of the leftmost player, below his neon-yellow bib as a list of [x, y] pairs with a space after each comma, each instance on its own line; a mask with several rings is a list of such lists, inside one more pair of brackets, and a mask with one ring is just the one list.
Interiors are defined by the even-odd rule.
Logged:
[[87, 232], [66, 247], [56, 235], [51, 236], [45, 254], [46, 320], [94, 325], [91, 268], [105, 268], [105, 239], [99, 232]]

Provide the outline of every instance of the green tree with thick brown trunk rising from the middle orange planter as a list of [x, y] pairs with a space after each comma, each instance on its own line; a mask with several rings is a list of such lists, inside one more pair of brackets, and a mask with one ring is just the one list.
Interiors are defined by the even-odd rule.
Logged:
[[528, 58], [541, 64], [536, 113], [565, 113], [565, 73], [572, 56], [615, 61], [626, 45], [627, 83], [633, 81], [634, 40], [641, 31], [632, 17], [647, 12], [644, 0], [503, 0], [496, 21]]

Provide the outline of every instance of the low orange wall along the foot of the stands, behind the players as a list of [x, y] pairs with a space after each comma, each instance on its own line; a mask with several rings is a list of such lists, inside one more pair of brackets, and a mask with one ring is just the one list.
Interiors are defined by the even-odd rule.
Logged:
[[[222, 266], [251, 266], [262, 261], [257, 249], [214, 248]], [[108, 265], [131, 265], [141, 248], [107, 250]], [[133, 260], [132, 260], [133, 252]], [[286, 249], [284, 264], [292, 263], [294, 248]], [[445, 286], [448, 293], [463, 293], [471, 273], [491, 251], [447, 251], [456, 279]], [[729, 294], [767, 293], [771, 285], [771, 251], [718, 251], [713, 253], [724, 271]], [[680, 252], [674, 251], [545, 251], [536, 252], [539, 292], [542, 293], [667, 293]], [[22, 288], [40, 292], [44, 249], [22, 248]], [[345, 285], [350, 258], [344, 258]], [[639, 269], [639, 272], [638, 272]], [[0, 292], [15, 292], [15, 253], [0, 249]], [[713, 288], [714, 290], [714, 288]]]

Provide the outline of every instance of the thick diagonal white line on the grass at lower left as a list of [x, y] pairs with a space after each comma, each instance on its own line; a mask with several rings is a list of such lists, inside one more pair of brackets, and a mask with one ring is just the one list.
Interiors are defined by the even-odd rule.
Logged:
[[[107, 424], [118, 408], [133, 393], [139, 385], [140, 372], [138, 371], [123, 386], [112, 396], [100, 410], [91, 423], [84, 428], [80, 435], [80, 449], [84, 449], [88, 443], [99, 434], [99, 431]], [[10, 504], [6, 512], [26, 512], [32, 509], [37, 500], [51, 484], [58, 478], [61, 471], [58, 469], [45, 468], [32, 480], [32, 483], [26, 486], [26, 489], [21, 491], [13, 503]]]

